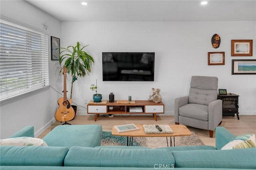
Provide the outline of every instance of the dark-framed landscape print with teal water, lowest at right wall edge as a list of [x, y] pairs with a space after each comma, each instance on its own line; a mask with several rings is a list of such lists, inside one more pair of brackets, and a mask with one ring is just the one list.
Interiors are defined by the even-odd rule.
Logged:
[[256, 59], [232, 59], [232, 74], [256, 74]]

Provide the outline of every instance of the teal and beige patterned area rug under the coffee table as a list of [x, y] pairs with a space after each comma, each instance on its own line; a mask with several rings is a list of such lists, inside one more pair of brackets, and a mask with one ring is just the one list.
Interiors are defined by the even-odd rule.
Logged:
[[[172, 144], [174, 139], [172, 137]], [[168, 137], [168, 144], [170, 145], [170, 137]], [[113, 136], [111, 132], [103, 132], [101, 146], [126, 146], [127, 137], [125, 136]], [[176, 136], [175, 146], [200, 146], [204, 145], [195, 132], [192, 132], [191, 136]], [[134, 137], [132, 146], [146, 146], [148, 148], [160, 148], [166, 147], [166, 137]]]

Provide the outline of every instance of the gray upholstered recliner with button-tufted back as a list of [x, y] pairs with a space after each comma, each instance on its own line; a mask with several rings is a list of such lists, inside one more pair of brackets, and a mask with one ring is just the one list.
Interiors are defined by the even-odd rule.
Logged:
[[218, 77], [192, 76], [188, 96], [174, 102], [175, 124], [209, 130], [210, 137], [222, 121], [222, 101], [217, 100]]

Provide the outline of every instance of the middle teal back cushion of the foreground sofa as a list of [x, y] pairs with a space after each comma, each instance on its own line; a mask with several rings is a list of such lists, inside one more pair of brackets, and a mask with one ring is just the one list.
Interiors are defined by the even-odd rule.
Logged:
[[126, 148], [70, 148], [64, 166], [142, 167], [154, 168], [155, 164], [174, 166], [174, 157], [167, 149]]

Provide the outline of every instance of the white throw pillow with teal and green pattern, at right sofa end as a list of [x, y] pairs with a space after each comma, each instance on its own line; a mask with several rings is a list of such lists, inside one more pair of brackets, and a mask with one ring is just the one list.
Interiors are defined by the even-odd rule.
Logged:
[[255, 134], [243, 134], [236, 136], [230, 140], [225, 146], [221, 149], [240, 149], [240, 148], [255, 148]]

